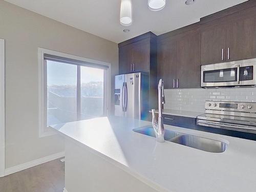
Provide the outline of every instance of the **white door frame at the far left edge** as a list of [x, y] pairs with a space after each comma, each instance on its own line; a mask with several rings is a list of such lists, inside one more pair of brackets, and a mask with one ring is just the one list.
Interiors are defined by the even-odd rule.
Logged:
[[0, 39], [0, 177], [5, 175], [5, 40]]

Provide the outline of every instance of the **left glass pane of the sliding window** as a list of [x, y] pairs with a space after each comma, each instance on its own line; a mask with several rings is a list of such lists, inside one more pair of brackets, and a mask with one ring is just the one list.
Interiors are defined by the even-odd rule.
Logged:
[[46, 60], [47, 126], [77, 120], [77, 66]]

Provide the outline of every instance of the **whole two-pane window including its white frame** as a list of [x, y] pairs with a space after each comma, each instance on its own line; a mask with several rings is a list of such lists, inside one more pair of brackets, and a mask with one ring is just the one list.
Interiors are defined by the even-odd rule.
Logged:
[[110, 63], [41, 48], [39, 59], [40, 137], [53, 134], [51, 124], [108, 114]]

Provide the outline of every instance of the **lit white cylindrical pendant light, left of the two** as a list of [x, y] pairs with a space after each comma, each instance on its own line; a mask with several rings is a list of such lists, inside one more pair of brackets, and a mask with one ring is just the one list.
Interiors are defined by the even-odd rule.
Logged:
[[132, 2], [131, 0], [121, 0], [120, 24], [123, 26], [132, 25]]

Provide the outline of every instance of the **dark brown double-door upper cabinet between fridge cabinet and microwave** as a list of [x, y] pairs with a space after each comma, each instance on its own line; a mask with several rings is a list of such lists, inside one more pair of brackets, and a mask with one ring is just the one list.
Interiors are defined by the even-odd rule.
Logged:
[[160, 78], [164, 81], [165, 89], [200, 88], [198, 24], [159, 37], [158, 79]]

